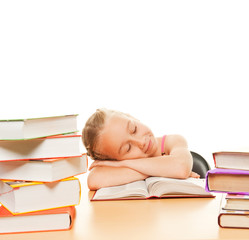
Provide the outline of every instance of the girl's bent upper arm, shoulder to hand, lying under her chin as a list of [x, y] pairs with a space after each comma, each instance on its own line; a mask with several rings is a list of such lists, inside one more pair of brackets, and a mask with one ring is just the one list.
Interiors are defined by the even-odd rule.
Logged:
[[96, 166], [126, 167], [147, 176], [188, 178], [193, 175], [192, 155], [186, 140], [179, 135], [166, 137], [165, 152], [168, 155], [122, 161], [95, 161]]

